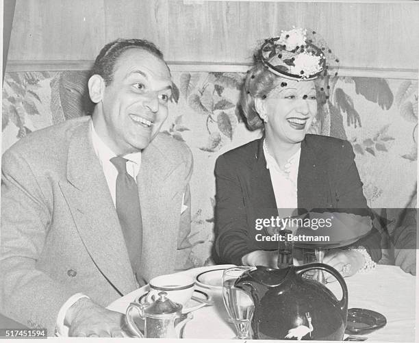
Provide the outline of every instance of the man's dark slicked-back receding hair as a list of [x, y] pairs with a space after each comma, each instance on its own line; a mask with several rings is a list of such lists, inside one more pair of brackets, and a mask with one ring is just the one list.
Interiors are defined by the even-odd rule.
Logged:
[[144, 39], [119, 38], [113, 42], [107, 43], [107, 45], [102, 48], [94, 61], [92, 75], [100, 75], [103, 80], [105, 80], [105, 85], [109, 86], [114, 79], [114, 67], [119, 56], [124, 51], [132, 48], [144, 49], [164, 62], [162, 51], [160, 51], [152, 42]]

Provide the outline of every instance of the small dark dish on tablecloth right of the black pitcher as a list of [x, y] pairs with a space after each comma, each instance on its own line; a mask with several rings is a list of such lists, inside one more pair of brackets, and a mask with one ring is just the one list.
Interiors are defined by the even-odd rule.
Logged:
[[370, 309], [348, 309], [345, 333], [363, 335], [387, 324], [385, 316]]

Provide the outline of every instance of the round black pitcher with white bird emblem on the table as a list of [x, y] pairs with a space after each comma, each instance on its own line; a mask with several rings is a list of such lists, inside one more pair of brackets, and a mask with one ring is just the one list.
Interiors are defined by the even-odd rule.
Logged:
[[[330, 272], [342, 287], [342, 300], [304, 272]], [[235, 287], [253, 299], [254, 340], [342, 340], [348, 314], [348, 289], [340, 273], [327, 264], [312, 263], [271, 269], [257, 266], [237, 279]]]

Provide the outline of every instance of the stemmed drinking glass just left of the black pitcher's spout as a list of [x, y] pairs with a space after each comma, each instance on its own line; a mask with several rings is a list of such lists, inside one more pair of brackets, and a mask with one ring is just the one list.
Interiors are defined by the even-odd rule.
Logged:
[[223, 272], [223, 301], [237, 330], [236, 340], [249, 339], [249, 327], [255, 305], [244, 291], [234, 287], [236, 280], [252, 267], [233, 267]]

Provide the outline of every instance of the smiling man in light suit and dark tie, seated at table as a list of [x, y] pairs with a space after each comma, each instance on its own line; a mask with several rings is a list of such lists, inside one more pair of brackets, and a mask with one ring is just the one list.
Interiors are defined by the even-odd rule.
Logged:
[[70, 335], [120, 337], [123, 316], [105, 306], [190, 249], [192, 155], [158, 133], [178, 93], [151, 42], [105, 45], [88, 90], [91, 118], [3, 155], [0, 312], [48, 335], [64, 322]]

